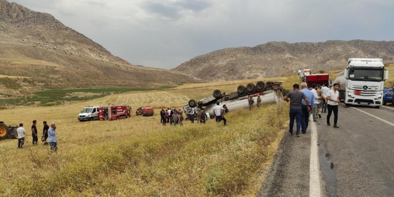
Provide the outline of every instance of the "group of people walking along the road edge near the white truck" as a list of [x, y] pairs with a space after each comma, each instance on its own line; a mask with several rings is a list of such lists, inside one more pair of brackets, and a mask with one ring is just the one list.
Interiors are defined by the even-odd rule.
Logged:
[[308, 89], [308, 84], [301, 83], [301, 90], [298, 84], [293, 85], [293, 91], [290, 91], [283, 99], [290, 102], [290, 135], [293, 134], [294, 119], [296, 120], [296, 136], [299, 132], [305, 134], [309, 126], [309, 117], [312, 114], [313, 121], [317, 122], [317, 118], [322, 118], [321, 113], [327, 113], [327, 125], [331, 126], [330, 118], [334, 112], [334, 128], [339, 128], [338, 122], [338, 103], [339, 84], [333, 84], [333, 88], [329, 89], [328, 84], [320, 86], [312, 84]]

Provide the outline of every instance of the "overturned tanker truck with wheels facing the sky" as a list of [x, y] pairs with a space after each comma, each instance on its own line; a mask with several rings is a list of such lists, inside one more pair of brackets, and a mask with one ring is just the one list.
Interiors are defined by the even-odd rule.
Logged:
[[221, 93], [220, 90], [216, 89], [213, 94], [205, 99], [201, 99], [198, 102], [195, 100], [189, 100], [189, 103], [183, 106], [183, 110], [188, 118], [192, 111], [204, 110], [205, 113], [209, 113], [210, 117], [214, 117], [214, 107], [216, 103], [220, 106], [224, 104], [227, 106], [229, 111], [236, 110], [238, 108], [248, 108], [248, 96], [252, 95], [256, 105], [257, 97], [260, 95], [261, 103], [278, 103], [283, 101], [282, 95], [282, 82], [267, 82], [264, 83], [259, 81], [255, 84], [249, 83], [246, 85], [239, 85], [237, 91], [226, 94]]

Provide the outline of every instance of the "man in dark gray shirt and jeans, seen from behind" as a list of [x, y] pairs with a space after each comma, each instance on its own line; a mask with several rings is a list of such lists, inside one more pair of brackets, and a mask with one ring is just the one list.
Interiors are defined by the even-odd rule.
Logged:
[[301, 101], [302, 101], [302, 99], [304, 99], [305, 102], [307, 103], [307, 106], [309, 106], [309, 100], [307, 99], [307, 97], [305, 96], [305, 94], [303, 92], [299, 91], [298, 84], [294, 84], [293, 91], [287, 93], [287, 95], [284, 96], [284, 98], [283, 98], [283, 100], [286, 100], [286, 102], [290, 101], [289, 134], [293, 135], [294, 119], [296, 119], [296, 124], [297, 124], [296, 136], [297, 137], [299, 137], [299, 131], [301, 130], [301, 115], [302, 115]]

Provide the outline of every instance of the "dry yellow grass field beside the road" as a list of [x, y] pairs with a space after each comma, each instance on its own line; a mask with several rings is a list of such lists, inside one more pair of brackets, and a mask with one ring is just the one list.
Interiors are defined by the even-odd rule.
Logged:
[[[271, 80], [271, 79], [269, 79]], [[288, 83], [293, 76], [278, 79]], [[257, 80], [253, 80], [256, 82]], [[268, 80], [264, 80], [268, 81]], [[273, 81], [273, 80], [272, 80]], [[210, 120], [205, 125], [162, 126], [159, 108], [180, 108], [214, 89], [234, 91], [252, 80], [187, 84], [157, 91], [110, 95], [55, 107], [1, 110], [7, 124], [24, 123], [27, 145], [0, 141], [0, 193], [4, 196], [234, 196], [256, 194], [285, 128], [288, 106], [236, 110], [228, 126]], [[297, 81], [296, 81], [297, 82]], [[290, 85], [291, 86], [291, 85]], [[128, 104], [133, 111], [152, 105], [152, 117], [119, 121], [79, 122], [84, 106]], [[32, 146], [33, 119], [58, 127], [57, 154], [40, 143]], [[39, 135], [41, 137], [41, 135]], [[264, 168], [264, 166], [266, 168]]]

